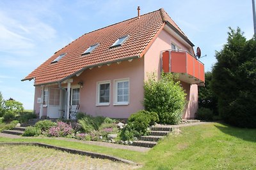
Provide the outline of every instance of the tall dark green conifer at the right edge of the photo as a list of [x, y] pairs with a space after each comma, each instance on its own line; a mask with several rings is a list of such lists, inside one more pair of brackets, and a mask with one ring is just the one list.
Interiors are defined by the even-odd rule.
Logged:
[[227, 44], [216, 52], [211, 88], [228, 124], [256, 127], [256, 41], [230, 28]]

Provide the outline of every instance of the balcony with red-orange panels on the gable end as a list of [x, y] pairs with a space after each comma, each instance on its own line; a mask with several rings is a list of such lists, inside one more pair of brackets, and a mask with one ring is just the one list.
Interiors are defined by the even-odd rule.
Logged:
[[179, 80], [190, 84], [204, 85], [204, 64], [183, 50], [161, 52], [164, 73], [175, 73]]

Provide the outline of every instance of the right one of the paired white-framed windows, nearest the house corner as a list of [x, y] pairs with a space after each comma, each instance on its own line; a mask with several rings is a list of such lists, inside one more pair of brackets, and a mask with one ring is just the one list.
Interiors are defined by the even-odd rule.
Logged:
[[129, 104], [129, 79], [115, 80], [115, 104]]

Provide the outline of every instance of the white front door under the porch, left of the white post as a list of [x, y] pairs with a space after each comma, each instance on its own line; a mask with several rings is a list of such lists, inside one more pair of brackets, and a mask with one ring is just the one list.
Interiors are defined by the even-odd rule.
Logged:
[[47, 116], [49, 118], [60, 118], [60, 89], [57, 88], [49, 88], [49, 104]]

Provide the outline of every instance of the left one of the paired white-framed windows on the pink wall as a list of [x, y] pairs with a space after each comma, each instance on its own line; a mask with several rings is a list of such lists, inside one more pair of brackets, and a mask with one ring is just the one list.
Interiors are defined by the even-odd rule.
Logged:
[[109, 105], [110, 81], [97, 83], [97, 105]]

